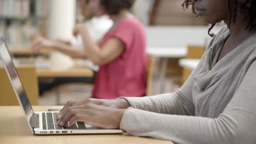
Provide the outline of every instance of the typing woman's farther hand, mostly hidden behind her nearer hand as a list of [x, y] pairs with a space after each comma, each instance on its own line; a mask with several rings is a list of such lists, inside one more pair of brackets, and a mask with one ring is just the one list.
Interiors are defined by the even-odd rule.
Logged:
[[127, 109], [128, 107], [130, 107], [130, 104], [125, 99], [78, 99], [68, 101], [67, 104], [63, 106], [57, 117], [60, 119], [62, 113], [64, 113], [68, 109], [68, 107], [82, 106], [90, 103], [95, 105], [112, 107], [116, 109]]

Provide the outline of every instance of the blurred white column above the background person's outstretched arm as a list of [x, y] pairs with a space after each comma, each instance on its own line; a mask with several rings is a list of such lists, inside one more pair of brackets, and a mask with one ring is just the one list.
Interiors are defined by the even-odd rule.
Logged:
[[48, 38], [71, 39], [75, 23], [75, 2], [74, 0], [49, 1]]

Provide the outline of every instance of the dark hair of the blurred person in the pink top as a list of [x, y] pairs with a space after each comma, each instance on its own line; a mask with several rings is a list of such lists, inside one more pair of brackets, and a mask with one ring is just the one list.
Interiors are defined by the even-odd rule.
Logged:
[[100, 0], [109, 15], [118, 14], [122, 9], [130, 9], [135, 0]]

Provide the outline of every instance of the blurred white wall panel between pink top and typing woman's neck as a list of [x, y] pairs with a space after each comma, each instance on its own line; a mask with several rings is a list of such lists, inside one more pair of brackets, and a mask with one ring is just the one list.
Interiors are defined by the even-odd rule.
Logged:
[[[148, 47], [207, 45], [211, 37], [207, 26], [150, 26], [146, 27]], [[217, 33], [222, 27], [215, 27]]]

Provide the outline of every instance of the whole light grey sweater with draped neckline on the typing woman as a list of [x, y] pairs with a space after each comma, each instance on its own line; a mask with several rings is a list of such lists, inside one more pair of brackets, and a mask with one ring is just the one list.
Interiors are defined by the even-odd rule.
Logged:
[[211, 41], [201, 62], [174, 93], [124, 98], [120, 128], [174, 143], [256, 143], [256, 34], [218, 63], [229, 29]]

